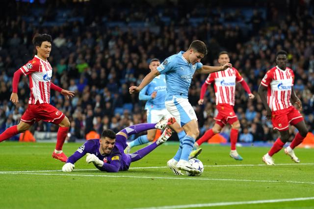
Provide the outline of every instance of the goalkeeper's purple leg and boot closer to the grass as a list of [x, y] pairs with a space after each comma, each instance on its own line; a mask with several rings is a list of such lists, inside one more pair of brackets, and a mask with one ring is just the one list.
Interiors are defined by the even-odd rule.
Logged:
[[146, 155], [148, 155], [150, 152], [152, 152], [154, 149], [157, 148], [160, 144], [164, 143], [167, 139], [169, 139], [172, 135], [172, 130], [170, 128], [166, 128], [161, 136], [152, 144], [137, 150], [136, 152], [129, 154], [131, 156], [131, 162], [138, 161], [142, 158], [144, 158]]

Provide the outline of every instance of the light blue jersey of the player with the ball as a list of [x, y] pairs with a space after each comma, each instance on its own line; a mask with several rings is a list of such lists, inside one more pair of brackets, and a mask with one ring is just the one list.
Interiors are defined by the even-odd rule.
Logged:
[[157, 70], [166, 75], [167, 96], [166, 101], [177, 98], [187, 98], [195, 70], [202, 68], [202, 63], [192, 65], [183, 57], [184, 51], [165, 59]]

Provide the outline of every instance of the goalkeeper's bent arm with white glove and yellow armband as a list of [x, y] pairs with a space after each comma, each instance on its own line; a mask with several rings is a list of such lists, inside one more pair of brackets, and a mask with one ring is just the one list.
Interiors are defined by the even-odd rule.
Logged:
[[99, 158], [97, 158], [95, 155], [91, 156], [88, 155], [86, 157], [87, 163], [94, 163], [94, 165], [101, 171], [106, 171], [108, 173], [117, 173], [121, 167], [121, 155], [116, 155], [111, 158], [111, 163], [104, 163], [104, 161], [101, 161]]

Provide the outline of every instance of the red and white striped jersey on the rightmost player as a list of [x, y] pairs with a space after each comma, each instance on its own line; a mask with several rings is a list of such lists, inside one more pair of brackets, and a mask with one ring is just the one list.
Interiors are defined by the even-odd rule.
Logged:
[[292, 106], [290, 102], [294, 73], [291, 69], [281, 70], [278, 66], [268, 70], [261, 84], [267, 87], [267, 104], [272, 111]]

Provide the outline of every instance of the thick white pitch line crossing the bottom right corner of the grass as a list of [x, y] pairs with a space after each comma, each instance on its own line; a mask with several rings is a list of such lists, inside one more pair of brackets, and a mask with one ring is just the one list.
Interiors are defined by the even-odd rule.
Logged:
[[300, 197], [300, 198], [275, 199], [275, 200], [254, 200], [254, 201], [241, 201], [241, 202], [205, 203], [205, 204], [161, 206], [161, 207], [135, 208], [135, 209], [185, 209], [185, 208], [201, 208], [201, 207], [215, 207], [215, 206], [281, 203], [281, 202], [294, 202], [294, 201], [304, 201], [304, 200], [314, 200], [314, 197]]

